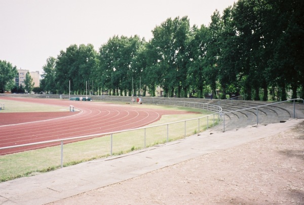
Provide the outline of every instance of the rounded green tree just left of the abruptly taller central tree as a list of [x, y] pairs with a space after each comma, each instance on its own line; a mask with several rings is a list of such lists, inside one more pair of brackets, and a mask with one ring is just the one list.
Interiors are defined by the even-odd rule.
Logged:
[[112, 95], [132, 94], [132, 77], [139, 86], [142, 67], [137, 58], [139, 48], [144, 40], [137, 35], [134, 37], [113, 36], [99, 49], [98, 81], [102, 87], [109, 89]]

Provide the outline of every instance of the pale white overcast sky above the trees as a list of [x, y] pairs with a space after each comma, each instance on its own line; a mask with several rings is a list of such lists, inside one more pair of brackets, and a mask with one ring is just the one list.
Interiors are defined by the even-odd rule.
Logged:
[[96, 51], [114, 35], [153, 37], [168, 18], [208, 26], [211, 15], [237, 0], [0, 0], [0, 60], [40, 71], [72, 44]]

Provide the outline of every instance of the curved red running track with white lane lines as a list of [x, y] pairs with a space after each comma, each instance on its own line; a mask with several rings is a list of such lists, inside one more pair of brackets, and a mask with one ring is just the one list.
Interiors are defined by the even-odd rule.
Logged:
[[[138, 104], [116, 105], [40, 98], [1, 99], [66, 106], [67, 109], [73, 105], [80, 111], [0, 113], [0, 147], [139, 128], [159, 120], [164, 114], [187, 113], [145, 109], [144, 105]], [[0, 155], [58, 144], [4, 149], [0, 150]]]

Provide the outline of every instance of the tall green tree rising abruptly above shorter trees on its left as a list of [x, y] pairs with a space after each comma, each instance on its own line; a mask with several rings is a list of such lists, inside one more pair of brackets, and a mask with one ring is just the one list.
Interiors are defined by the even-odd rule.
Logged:
[[[161, 69], [160, 85], [164, 88], [169, 97], [173, 97], [175, 89], [177, 96], [181, 96], [181, 88], [187, 93], [186, 84], [186, 43], [189, 34], [189, 20], [187, 17], [176, 17], [167, 19], [153, 31], [151, 46], [156, 52], [157, 63], [159, 66], [154, 68]], [[158, 71], [156, 71], [158, 72]], [[169, 94], [169, 95], [168, 95]]]

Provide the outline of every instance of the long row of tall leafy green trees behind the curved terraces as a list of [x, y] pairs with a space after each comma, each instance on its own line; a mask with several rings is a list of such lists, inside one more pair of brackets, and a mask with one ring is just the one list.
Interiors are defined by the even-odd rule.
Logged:
[[[43, 66], [41, 89], [51, 93], [248, 100], [304, 98], [304, 1], [239, 0], [208, 26], [168, 18], [146, 41], [113, 36], [98, 51], [71, 45]], [[219, 96], [217, 91], [220, 91]]]

